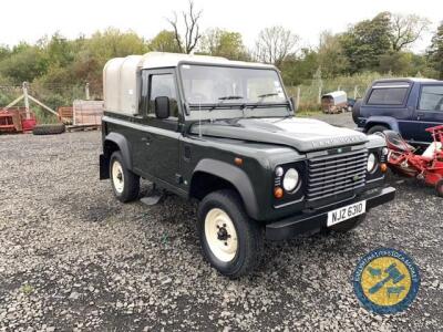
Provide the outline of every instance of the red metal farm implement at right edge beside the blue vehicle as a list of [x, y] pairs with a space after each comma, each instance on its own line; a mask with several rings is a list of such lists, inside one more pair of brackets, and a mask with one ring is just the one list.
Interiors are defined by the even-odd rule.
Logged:
[[418, 155], [398, 133], [383, 132], [390, 149], [388, 164], [398, 174], [434, 186], [436, 195], [443, 197], [443, 125], [426, 128], [433, 142], [426, 151]]

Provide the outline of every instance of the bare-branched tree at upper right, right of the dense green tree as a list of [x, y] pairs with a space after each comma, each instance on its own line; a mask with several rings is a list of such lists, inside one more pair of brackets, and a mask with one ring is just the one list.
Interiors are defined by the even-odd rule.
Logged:
[[392, 50], [400, 52], [418, 41], [431, 24], [430, 20], [416, 14], [392, 14], [390, 40]]

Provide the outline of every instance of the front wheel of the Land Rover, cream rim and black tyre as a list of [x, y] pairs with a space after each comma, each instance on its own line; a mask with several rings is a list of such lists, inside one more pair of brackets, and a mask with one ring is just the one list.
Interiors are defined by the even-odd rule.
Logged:
[[234, 190], [215, 191], [200, 201], [198, 235], [205, 258], [231, 279], [250, 272], [261, 260], [261, 228], [246, 215]]

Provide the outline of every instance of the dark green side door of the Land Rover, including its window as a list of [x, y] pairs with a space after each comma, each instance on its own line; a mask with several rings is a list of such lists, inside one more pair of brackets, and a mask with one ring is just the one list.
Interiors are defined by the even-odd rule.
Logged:
[[[147, 177], [175, 184], [179, 169], [179, 104], [173, 69], [144, 70], [142, 72], [142, 105], [145, 114], [145, 131], [138, 146], [144, 151], [138, 159]], [[169, 116], [158, 118], [155, 114], [157, 97], [169, 98]]]

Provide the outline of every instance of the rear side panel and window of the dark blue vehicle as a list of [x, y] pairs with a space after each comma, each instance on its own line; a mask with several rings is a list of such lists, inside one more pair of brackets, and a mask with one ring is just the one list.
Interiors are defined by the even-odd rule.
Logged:
[[414, 124], [411, 123], [413, 107], [408, 105], [411, 91], [409, 82], [379, 82], [365, 100], [370, 116], [389, 116], [396, 120], [400, 134], [410, 139], [413, 136]]

